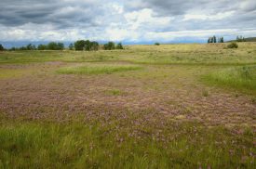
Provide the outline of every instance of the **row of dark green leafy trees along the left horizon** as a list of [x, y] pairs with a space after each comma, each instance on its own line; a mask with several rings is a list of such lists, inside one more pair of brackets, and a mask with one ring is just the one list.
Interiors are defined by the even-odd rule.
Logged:
[[[47, 45], [25, 45], [20, 47], [11, 47], [8, 50], [64, 50], [65, 46], [63, 43], [50, 42]], [[75, 41], [74, 44], [70, 44], [68, 46], [69, 50], [79, 50], [79, 51], [95, 51], [95, 50], [115, 50], [115, 49], [124, 49], [122, 43], [118, 43], [115, 45], [114, 42], [108, 42], [107, 44], [100, 45], [96, 41], [89, 40], [78, 40]], [[3, 45], [0, 44], [0, 51], [7, 50]]]

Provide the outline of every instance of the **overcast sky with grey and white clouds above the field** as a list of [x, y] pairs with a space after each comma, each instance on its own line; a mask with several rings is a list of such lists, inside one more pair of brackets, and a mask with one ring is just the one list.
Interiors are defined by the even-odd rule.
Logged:
[[256, 0], [0, 0], [0, 7], [2, 42], [256, 36]]

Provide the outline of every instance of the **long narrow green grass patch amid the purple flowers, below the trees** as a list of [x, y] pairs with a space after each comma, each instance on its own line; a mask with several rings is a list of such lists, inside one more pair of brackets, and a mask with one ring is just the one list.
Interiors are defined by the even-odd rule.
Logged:
[[61, 68], [57, 72], [61, 74], [110, 74], [117, 71], [136, 71], [140, 69], [140, 66], [134, 65], [88, 65]]

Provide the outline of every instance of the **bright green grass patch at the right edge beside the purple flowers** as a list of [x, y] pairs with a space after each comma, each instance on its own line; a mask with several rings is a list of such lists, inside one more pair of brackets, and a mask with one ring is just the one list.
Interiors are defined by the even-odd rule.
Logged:
[[212, 71], [203, 75], [208, 84], [217, 84], [232, 87], [243, 91], [256, 92], [256, 66], [227, 68], [221, 71]]

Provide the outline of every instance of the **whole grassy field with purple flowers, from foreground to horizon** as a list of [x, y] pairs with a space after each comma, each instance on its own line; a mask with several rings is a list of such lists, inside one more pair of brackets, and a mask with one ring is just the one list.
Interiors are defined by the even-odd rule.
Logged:
[[255, 168], [256, 44], [0, 53], [0, 168]]

